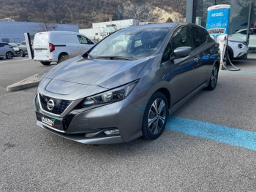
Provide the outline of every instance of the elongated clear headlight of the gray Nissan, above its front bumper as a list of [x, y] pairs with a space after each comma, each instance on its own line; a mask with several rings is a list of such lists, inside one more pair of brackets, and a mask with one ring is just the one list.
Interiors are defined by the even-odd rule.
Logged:
[[116, 101], [121, 101], [122, 99], [126, 98], [129, 95], [129, 93], [131, 93], [132, 89], [135, 88], [135, 85], [138, 83], [138, 81], [139, 80], [130, 82], [127, 85], [123, 85], [119, 88], [115, 88], [105, 93], [100, 93], [96, 96], [87, 97], [83, 101], [82, 106], [91, 107], [92, 105], [95, 105], [95, 104], [105, 104], [105, 103], [113, 103]]

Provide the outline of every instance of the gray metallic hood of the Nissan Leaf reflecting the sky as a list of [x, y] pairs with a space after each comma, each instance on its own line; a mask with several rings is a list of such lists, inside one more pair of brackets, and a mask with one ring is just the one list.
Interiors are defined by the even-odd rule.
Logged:
[[54, 66], [39, 83], [39, 93], [75, 100], [138, 79], [150, 58], [134, 61], [71, 58]]

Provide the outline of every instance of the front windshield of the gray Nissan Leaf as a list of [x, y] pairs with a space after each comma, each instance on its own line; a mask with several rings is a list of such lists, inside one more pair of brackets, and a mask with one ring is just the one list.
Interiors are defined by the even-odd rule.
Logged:
[[89, 55], [92, 58], [143, 58], [157, 51], [170, 28], [126, 28], [99, 42]]

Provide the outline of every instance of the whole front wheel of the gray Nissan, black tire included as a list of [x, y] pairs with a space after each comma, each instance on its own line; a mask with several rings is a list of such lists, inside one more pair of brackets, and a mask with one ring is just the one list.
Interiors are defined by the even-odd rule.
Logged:
[[165, 129], [167, 117], [167, 99], [163, 93], [156, 92], [149, 99], [143, 115], [143, 138], [148, 140], [157, 139]]

